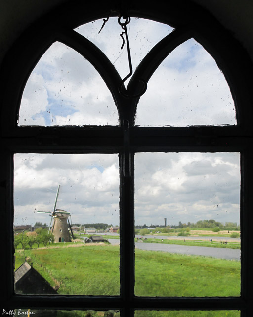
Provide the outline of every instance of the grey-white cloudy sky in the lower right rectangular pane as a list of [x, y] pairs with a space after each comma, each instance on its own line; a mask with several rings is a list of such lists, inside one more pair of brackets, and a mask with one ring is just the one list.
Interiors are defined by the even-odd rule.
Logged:
[[135, 155], [136, 224], [149, 219], [161, 225], [164, 218], [168, 224], [208, 218], [239, 223], [239, 211], [238, 153]]

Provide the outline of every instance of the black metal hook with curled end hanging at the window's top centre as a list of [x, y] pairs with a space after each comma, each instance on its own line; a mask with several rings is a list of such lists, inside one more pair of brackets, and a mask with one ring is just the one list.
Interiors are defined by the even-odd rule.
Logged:
[[[121, 22], [121, 18], [125, 19], [126, 21], [122, 23]], [[123, 46], [124, 46], [124, 43], [125, 43], [124, 38], [123, 38], [123, 34], [125, 34], [126, 42], [127, 42], [127, 54], [128, 54], [129, 70], [130, 70], [129, 74], [120, 83], [119, 93], [125, 98], [137, 98], [137, 97], [142, 96], [145, 93], [145, 91], [147, 90], [147, 83], [143, 79], [139, 79], [139, 81], [142, 82], [143, 85], [144, 85], [144, 88], [142, 89], [142, 91], [140, 93], [138, 93], [136, 95], [127, 95], [123, 91], [124, 82], [132, 75], [132, 61], [131, 61], [129, 39], [128, 39], [128, 34], [127, 34], [127, 24], [130, 23], [130, 21], [131, 21], [131, 18], [129, 16], [123, 16], [123, 15], [120, 15], [119, 19], [118, 19], [118, 23], [119, 23], [119, 25], [121, 25], [121, 27], [123, 29], [123, 32], [121, 33], [121, 37], [123, 39], [123, 44], [122, 44], [121, 49], [123, 49]]]

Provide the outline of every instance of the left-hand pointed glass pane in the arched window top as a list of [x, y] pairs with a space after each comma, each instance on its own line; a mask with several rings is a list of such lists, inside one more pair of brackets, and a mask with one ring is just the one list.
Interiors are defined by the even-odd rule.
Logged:
[[55, 42], [31, 73], [18, 125], [119, 125], [104, 81], [79, 53]]

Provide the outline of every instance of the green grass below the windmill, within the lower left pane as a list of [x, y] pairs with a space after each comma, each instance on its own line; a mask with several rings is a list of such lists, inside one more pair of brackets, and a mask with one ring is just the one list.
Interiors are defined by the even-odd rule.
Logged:
[[[31, 249], [27, 256], [33, 267], [59, 294], [119, 295], [119, 248], [110, 245], [82, 245]], [[20, 261], [16, 256], [16, 261]]]

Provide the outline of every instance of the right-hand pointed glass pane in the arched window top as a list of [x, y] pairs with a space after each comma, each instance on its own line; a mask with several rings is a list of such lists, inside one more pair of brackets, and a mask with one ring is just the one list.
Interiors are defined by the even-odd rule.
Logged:
[[194, 39], [161, 63], [140, 98], [136, 125], [236, 125], [234, 101], [224, 75]]

